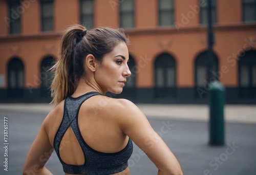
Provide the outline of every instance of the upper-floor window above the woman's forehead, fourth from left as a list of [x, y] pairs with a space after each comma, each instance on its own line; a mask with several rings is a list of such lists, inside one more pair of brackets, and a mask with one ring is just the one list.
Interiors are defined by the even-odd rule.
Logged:
[[134, 0], [120, 0], [120, 27], [134, 28]]

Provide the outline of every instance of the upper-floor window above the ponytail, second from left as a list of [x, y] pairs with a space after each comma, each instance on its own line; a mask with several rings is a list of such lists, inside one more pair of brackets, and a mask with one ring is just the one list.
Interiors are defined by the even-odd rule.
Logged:
[[41, 1], [41, 30], [53, 31], [53, 0]]

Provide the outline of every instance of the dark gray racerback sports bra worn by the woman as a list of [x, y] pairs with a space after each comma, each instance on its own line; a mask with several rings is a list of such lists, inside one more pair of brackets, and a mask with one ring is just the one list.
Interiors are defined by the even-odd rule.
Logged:
[[[64, 104], [64, 113], [57, 133], [54, 137], [54, 149], [66, 173], [71, 174], [114, 174], [121, 172], [128, 166], [128, 159], [133, 152], [133, 143], [129, 138], [126, 147], [119, 152], [108, 154], [94, 150], [82, 138], [78, 127], [78, 112], [81, 104], [94, 95], [102, 95], [98, 92], [90, 92], [77, 98], [67, 97]], [[59, 146], [63, 135], [71, 126], [75, 136], [82, 148], [84, 155], [83, 165], [68, 165], [64, 163], [59, 155]]]

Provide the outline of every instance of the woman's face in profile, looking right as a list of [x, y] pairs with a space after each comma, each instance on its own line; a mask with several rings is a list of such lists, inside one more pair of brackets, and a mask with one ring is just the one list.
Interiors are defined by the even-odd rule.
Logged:
[[95, 71], [95, 80], [104, 94], [122, 92], [126, 77], [131, 75], [128, 61], [129, 52], [125, 42], [120, 42], [112, 52], [104, 55]]

